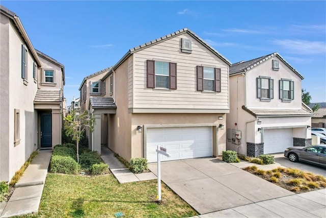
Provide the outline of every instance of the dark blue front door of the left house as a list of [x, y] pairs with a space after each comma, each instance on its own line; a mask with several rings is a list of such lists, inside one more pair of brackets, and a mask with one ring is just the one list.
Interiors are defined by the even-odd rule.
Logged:
[[41, 148], [52, 147], [52, 114], [41, 114]]

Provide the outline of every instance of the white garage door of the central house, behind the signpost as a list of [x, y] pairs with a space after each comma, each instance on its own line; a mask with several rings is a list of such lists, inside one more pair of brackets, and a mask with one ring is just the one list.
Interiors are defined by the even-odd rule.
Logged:
[[162, 161], [212, 156], [212, 127], [148, 128], [146, 158], [157, 161], [157, 146], [164, 147], [171, 157]]

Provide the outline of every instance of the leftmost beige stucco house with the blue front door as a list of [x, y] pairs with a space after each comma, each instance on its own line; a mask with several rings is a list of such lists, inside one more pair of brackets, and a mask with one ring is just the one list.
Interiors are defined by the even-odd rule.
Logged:
[[65, 76], [34, 49], [19, 17], [0, 11], [0, 181], [9, 181], [33, 151], [61, 143]]

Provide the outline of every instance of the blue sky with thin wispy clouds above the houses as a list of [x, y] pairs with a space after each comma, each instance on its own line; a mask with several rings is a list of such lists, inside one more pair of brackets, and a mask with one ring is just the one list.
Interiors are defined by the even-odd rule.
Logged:
[[189, 28], [232, 63], [278, 52], [326, 102], [326, 1], [0, 1], [34, 47], [65, 65], [67, 104], [83, 78], [137, 45]]

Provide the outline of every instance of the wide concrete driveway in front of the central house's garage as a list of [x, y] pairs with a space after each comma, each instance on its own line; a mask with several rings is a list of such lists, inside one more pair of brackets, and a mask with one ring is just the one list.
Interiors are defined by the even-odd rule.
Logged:
[[216, 158], [162, 162], [161, 179], [200, 214], [294, 195]]

